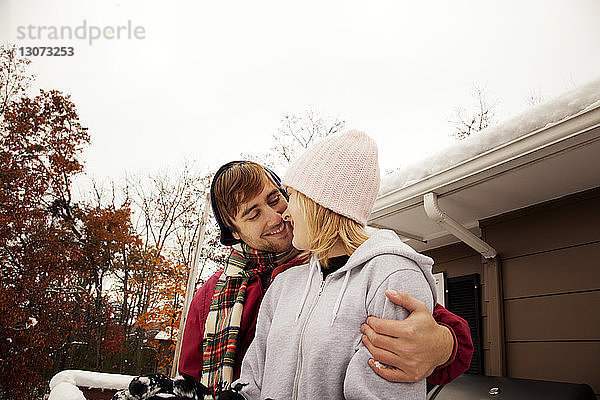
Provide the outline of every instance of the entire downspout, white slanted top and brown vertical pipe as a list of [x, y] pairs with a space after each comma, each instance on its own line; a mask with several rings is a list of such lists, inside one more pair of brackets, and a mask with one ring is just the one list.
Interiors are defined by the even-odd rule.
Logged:
[[423, 207], [427, 216], [456, 236], [462, 242], [475, 249], [484, 257], [483, 261], [483, 303], [487, 314], [487, 341], [489, 346], [489, 367], [485, 374], [506, 376], [506, 349], [504, 337], [504, 301], [502, 294], [502, 272], [496, 250], [478, 238], [470, 230], [452, 219], [440, 209], [437, 195], [433, 192], [423, 196]]

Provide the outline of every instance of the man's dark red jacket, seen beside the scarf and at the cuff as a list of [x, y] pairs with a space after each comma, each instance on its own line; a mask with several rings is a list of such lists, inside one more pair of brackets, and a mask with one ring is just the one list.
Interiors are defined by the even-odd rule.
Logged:
[[[279, 271], [276, 270], [273, 273], [276, 274], [277, 272]], [[204, 323], [208, 316], [217, 280], [222, 273], [223, 271], [215, 273], [194, 295], [183, 332], [183, 342], [179, 356], [179, 373], [191, 375], [197, 380], [200, 380], [202, 374]], [[240, 343], [237, 347], [239, 351], [237, 351], [235, 357], [234, 379], [239, 377], [242, 359], [252, 339], [254, 339], [258, 309], [265, 291], [266, 289], [263, 288], [260, 279], [254, 278], [248, 283], [246, 302], [242, 312]], [[446, 364], [437, 367], [427, 378], [427, 381], [434, 385], [445, 385], [469, 369], [471, 356], [473, 355], [473, 342], [471, 341], [469, 325], [458, 315], [454, 315], [441, 305], [436, 304], [433, 317], [438, 323], [450, 328], [454, 336], [452, 356]]]

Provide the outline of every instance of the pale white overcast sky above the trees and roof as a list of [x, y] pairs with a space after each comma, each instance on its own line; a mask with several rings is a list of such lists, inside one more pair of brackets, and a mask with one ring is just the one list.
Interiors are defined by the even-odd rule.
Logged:
[[[143, 26], [143, 40], [17, 40], [17, 27]], [[502, 120], [600, 75], [600, 1], [0, 0], [0, 39], [73, 46], [34, 57], [37, 87], [72, 95], [89, 174], [119, 178], [266, 151], [312, 106], [365, 130], [382, 169], [448, 143], [474, 83]]]

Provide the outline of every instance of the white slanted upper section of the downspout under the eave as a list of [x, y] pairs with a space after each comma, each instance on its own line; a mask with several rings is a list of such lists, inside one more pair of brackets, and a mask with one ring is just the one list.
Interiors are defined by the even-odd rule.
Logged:
[[458, 221], [452, 219], [440, 209], [435, 193], [430, 192], [423, 196], [423, 207], [425, 207], [425, 213], [427, 213], [429, 219], [465, 242], [482, 256], [485, 258], [496, 257], [496, 250], [494, 250], [492, 246], [478, 238], [473, 232], [462, 226]]

